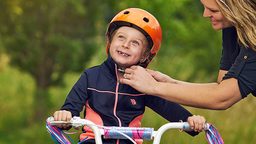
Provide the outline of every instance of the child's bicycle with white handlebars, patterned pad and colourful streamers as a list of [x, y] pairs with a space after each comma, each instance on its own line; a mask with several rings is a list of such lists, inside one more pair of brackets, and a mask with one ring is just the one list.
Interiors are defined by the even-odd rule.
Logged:
[[[81, 119], [80, 117], [77, 117], [77, 116], [74, 116], [70, 121], [54, 121], [54, 118], [51, 116], [47, 118], [46, 127], [47, 127], [47, 131], [51, 134], [56, 144], [71, 144], [69, 140], [63, 135], [63, 133], [64, 134], [66, 133], [60, 130], [57, 126], [55, 126], [55, 125], [63, 125], [63, 124], [68, 124], [73, 127], [78, 127], [78, 126], [90, 127], [91, 130], [93, 130], [93, 133], [95, 135], [96, 144], [102, 144], [101, 135], [104, 135], [104, 139], [129, 139], [134, 144], [136, 144], [136, 142], [133, 139], [152, 140], [154, 137], [153, 144], [159, 144], [161, 140], [161, 136], [166, 130], [178, 129], [180, 132], [186, 131], [186, 130], [192, 130], [190, 129], [190, 124], [188, 122], [183, 122], [181, 120], [177, 123], [166, 123], [165, 125], [161, 126], [157, 131], [154, 131], [154, 128], [100, 126], [100, 125], [96, 125], [95, 123], [87, 119]], [[102, 127], [103, 129], [99, 129], [98, 127]], [[206, 138], [209, 144], [224, 144], [215, 126], [209, 123], [206, 123], [204, 131], [206, 132]], [[82, 140], [81, 142], [83, 142], [84, 140]]]

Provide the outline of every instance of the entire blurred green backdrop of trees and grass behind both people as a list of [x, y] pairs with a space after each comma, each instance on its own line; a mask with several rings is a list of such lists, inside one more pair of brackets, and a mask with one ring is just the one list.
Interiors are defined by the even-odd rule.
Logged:
[[[217, 81], [222, 32], [203, 17], [199, 0], [1, 0], [1, 144], [54, 144], [46, 119], [61, 108], [83, 70], [107, 58], [107, 26], [130, 7], [150, 12], [163, 31], [161, 49], [148, 68], [182, 81]], [[249, 95], [226, 111], [186, 108], [205, 116], [226, 144], [253, 144], [254, 99]], [[141, 126], [158, 130], [167, 122], [146, 109]], [[77, 142], [79, 134], [70, 136]], [[161, 139], [161, 144], [181, 143], [208, 142], [204, 132], [191, 137], [177, 130]]]

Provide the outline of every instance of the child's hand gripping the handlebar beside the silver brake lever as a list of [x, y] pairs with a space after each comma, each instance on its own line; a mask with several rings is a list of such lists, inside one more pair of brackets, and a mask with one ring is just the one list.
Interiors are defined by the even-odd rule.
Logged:
[[[54, 114], [54, 121], [70, 121], [72, 118], [72, 114], [70, 111], [55, 111]], [[57, 125], [59, 128], [67, 128], [69, 125], [63, 124], [63, 125]], [[80, 128], [75, 128], [76, 130], [79, 130]]]

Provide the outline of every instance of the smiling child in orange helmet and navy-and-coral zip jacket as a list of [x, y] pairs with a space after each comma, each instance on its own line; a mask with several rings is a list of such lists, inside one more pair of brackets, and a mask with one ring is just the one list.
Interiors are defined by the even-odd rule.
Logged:
[[[85, 119], [95, 124], [140, 127], [147, 106], [170, 122], [188, 120], [198, 131], [204, 128], [204, 117], [192, 116], [178, 104], [145, 95], [129, 85], [119, 83], [125, 68], [132, 65], [146, 68], [158, 53], [162, 32], [154, 16], [141, 9], [125, 9], [112, 19], [106, 35], [109, 39], [107, 60], [99, 66], [84, 71], [68, 94], [61, 111], [54, 112], [55, 121], [69, 121], [72, 116], [79, 116], [85, 105]], [[70, 127], [59, 125], [59, 128], [66, 130]], [[83, 131], [86, 129], [88, 127], [84, 126]], [[187, 133], [192, 136], [198, 134], [195, 131]], [[82, 141], [86, 137], [88, 139], [82, 144], [95, 143], [91, 130], [82, 133], [79, 139]], [[124, 139], [102, 139], [102, 141], [104, 144], [131, 143], [130, 140]], [[138, 144], [143, 142], [139, 139], [135, 141]]]

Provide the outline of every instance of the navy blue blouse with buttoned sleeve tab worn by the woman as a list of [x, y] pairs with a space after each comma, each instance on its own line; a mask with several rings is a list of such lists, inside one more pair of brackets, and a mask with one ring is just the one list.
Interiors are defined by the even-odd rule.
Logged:
[[220, 70], [228, 70], [222, 80], [234, 77], [242, 98], [256, 96], [256, 52], [238, 44], [234, 26], [222, 29], [222, 47]]

